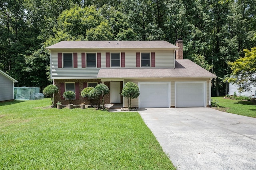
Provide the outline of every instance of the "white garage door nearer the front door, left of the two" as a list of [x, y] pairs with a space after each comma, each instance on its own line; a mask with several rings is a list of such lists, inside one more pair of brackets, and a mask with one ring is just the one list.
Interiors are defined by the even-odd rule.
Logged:
[[169, 82], [139, 82], [139, 107], [170, 107]]

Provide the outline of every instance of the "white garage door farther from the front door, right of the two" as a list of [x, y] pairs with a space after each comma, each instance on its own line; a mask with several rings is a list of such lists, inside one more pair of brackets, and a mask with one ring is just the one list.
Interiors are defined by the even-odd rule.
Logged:
[[175, 83], [176, 107], [205, 107], [205, 83]]

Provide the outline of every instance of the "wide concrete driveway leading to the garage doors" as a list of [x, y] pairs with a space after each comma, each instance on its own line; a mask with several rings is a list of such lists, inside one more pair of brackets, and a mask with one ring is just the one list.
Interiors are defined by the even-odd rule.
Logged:
[[211, 108], [139, 113], [178, 170], [256, 169], [256, 118]]

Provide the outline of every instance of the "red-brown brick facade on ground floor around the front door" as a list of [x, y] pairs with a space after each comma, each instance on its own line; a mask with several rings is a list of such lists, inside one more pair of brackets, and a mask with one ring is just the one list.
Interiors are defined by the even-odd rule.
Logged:
[[[98, 82], [102, 83], [100, 79], [54, 79], [54, 84], [58, 87], [58, 94], [54, 95], [54, 102], [62, 102], [62, 105], [68, 105], [68, 100], [62, 100], [61, 99], [61, 84], [65, 82], [75, 82], [79, 83], [79, 99], [73, 100], [72, 104], [74, 105], [80, 105], [81, 103], [85, 102], [86, 105], [90, 105], [90, 100], [88, 98], [83, 98], [81, 96], [82, 90], [84, 90], [84, 83], [86, 82]], [[104, 82], [108, 88], [110, 88], [110, 82]], [[121, 82], [121, 90], [122, 90], [122, 82]], [[110, 94], [106, 94], [104, 96], [105, 104], [110, 104]], [[122, 101], [122, 97], [121, 97]], [[93, 101], [93, 104], [96, 104], [96, 101]]]

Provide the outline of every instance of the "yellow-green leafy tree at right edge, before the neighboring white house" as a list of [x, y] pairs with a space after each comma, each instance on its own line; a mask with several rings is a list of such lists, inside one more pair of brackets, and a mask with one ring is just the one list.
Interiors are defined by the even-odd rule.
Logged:
[[[247, 92], [251, 87], [256, 87], [256, 47], [251, 50], [244, 50], [245, 56], [229, 63], [234, 78], [230, 78], [232, 82], [238, 86], [238, 92]], [[243, 86], [241, 86], [243, 84]]]

